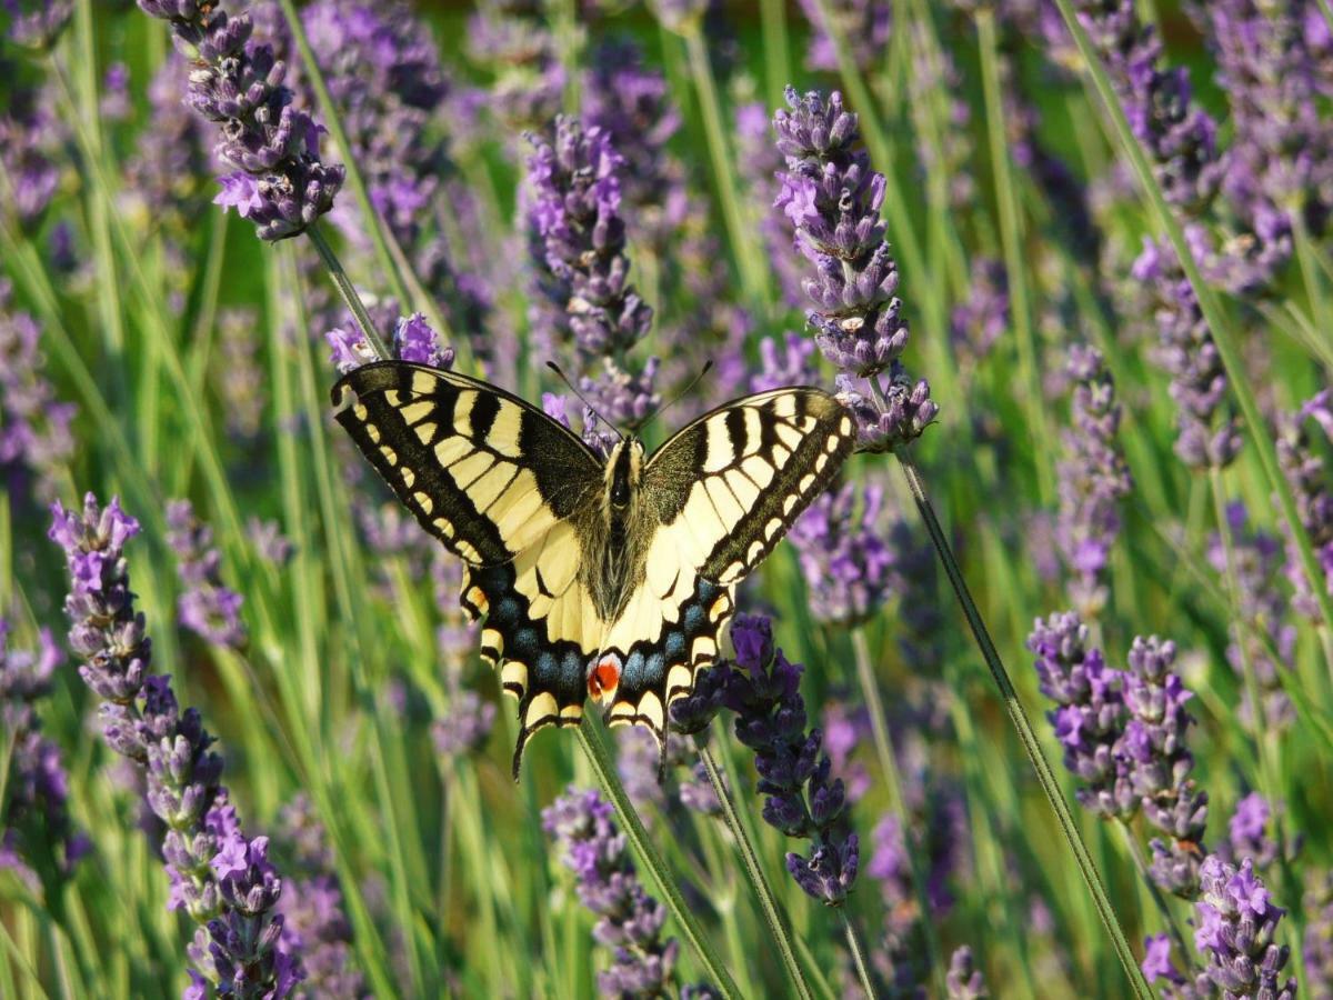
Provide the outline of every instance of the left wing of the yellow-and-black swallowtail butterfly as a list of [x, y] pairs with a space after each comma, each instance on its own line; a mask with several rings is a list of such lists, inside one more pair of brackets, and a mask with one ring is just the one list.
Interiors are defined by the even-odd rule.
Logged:
[[333, 387], [337, 421], [431, 535], [465, 563], [481, 655], [519, 700], [519, 745], [577, 725], [605, 623], [579, 580], [579, 513], [603, 463], [567, 427], [477, 379], [377, 361]]

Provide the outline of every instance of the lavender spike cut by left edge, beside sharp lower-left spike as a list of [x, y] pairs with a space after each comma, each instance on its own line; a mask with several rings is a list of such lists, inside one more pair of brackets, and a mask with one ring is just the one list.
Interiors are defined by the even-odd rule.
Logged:
[[41, 735], [37, 715], [64, 657], [47, 629], [40, 632], [36, 651], [12, 648], [9, 632], [9, 623], [0, 619], [0, 724], [12, 741], [0, 815], [0, 868], [56, 891], [56, 880], [89, 848], [69, 819], [60, 747]]

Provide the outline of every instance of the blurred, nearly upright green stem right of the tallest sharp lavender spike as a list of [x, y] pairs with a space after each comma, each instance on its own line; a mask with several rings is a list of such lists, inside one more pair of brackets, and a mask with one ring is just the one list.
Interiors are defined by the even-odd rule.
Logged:
[[1042, 405], [1041, 376], [1037, 371], [1036, 336], [1032, 329], [1032, 311], [1028, 304], [1028, 272], [1022, 256], [1022, 221], [1018, 213], [1017, 187], [1009, 164], [1009, 143], [1005, 136], [1004, 101], [1000, 97], [1000, 60], [996, 43], [994, 12], [982, 5], [977, 11], [977, 39], [981, 44], [981, 77], [986, 107], [986, 136], [990, 143], [990, 172], [996, 187], [996, 207], [1000, 213], [1000, 241], [1004, 245], [1004, 267], [1009, 279], [1009, 305], [1018, 347], [1018, 369], [1026, 392], [1028, 423], [1033, 429], [1033, 456], [1041, 505], [1049, 507], [1056, 495], [1053, 465], [1046, 456], [1054, 455], [1046, 408]]

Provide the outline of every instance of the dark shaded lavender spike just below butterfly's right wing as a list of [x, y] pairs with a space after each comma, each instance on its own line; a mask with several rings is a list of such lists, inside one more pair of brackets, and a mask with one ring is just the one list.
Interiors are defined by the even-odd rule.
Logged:
[[786, 855], [786, 871], [806, 895], [841, 905], [856, 883], [860, 841], [850, 831], [846, 791], [832, 777], [820, 729], [805, 731], [802, 668], [773, 645], [769, 619], [737, 615], [736, 657], [725, 673], [722, 704], [736, 712], [736, 739], [754, 751], [764, 820], [789, 837], [812, 841], [809, 857]]

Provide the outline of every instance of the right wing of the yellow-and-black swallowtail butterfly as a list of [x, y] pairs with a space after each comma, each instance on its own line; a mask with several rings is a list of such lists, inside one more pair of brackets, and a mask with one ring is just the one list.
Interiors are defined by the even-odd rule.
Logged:
[[728, 403], [676, 433], [644, 467], [655, 512], [643, 584], [612, 624], [612, 725], [665, 737], [672, 701], [717, 655], [733, 592], [852, 453], [856, 429], [826, 392], [774, 389]]

